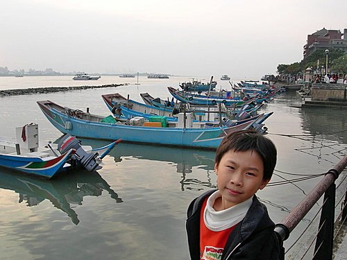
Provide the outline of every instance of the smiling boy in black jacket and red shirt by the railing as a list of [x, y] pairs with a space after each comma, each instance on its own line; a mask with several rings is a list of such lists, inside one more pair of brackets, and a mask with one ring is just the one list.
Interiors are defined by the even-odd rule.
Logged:
[[265, 205], [254, 194], [271, 179], [277, 151], [255, 130], [227, 135], [215, 157], [218, 190], [207, 191], [187, 211], [191, 259], [284, 259]]

